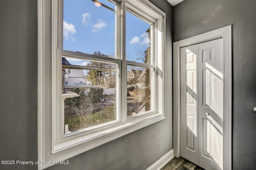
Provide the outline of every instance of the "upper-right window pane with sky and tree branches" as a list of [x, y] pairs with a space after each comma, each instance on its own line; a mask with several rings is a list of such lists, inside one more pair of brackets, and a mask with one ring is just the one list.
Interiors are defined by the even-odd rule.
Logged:
[[126, 11], [126, 60], [150, 64], [150, 24]]

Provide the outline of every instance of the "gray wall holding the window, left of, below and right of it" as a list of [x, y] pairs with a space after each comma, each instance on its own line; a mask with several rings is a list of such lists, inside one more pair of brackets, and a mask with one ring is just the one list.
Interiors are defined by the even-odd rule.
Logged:
[[[166, 12], [166, 44], [172, 46], [172, 6], [151, 0]], [[0, 1], [0, 160], [37, 160], [37, 1]], [[172, 48], [166, 50], [171, 62]], [[172, 69], [168, 67], [168, 69]], [[167, 83], [171, 84], [171, 76]], [[167, 96], [172, 88], [167, 88]], [[143, 170], [172, 149], [172, 108], [167, 118], [69, 159], [48, 170]], [[0, 169], [37, 166], [0, 164]]]

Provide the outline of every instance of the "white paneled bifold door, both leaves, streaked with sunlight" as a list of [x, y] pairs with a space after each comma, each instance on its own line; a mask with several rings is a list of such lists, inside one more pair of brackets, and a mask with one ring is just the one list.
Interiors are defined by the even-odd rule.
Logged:
[[180, 156], [222, 170], [223, 39], [180, 48], [180, 64]]

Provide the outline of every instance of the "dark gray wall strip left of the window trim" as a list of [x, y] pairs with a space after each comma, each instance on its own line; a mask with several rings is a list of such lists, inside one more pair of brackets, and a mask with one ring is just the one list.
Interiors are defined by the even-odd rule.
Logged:
[[36, 0], [0, 1], [0, 53], [0, 160], [37, 160]]

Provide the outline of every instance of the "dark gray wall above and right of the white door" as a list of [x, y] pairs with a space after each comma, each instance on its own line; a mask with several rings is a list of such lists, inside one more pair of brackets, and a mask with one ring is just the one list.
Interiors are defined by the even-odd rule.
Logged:
[[173, 41], [232, 25], [233, 169], [256, 166], [256, 1], [184, 0], [173, 8]]

